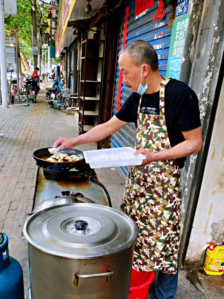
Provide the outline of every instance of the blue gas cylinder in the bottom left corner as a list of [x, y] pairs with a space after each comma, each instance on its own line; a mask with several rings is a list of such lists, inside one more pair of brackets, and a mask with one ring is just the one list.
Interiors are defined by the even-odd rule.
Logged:
[[3, 237], [4, 241], [0, 245], [0, 298], [24, 299], [22, 267], [9, 256], [8, 237], [6, 234]]

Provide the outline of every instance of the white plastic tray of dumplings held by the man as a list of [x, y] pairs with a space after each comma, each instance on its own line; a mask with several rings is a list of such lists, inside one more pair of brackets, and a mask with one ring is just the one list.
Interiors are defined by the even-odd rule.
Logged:
[[126, 159], [111, 159], [100, 160], [100, 157], [104, 155], [122, 155], [125, 152], [134, 153], [135, 149], [132, 147], [117, 147], [112, 149], [97, 149], [83, 152], [86, 163], [90, 164], [91, 168], [105, 168], [105, 167], [118, 167], [118, 166], [130, 166], [141, 165], [143, 159], [146, 157], [142, 154], [136, 156], [136, 158]]

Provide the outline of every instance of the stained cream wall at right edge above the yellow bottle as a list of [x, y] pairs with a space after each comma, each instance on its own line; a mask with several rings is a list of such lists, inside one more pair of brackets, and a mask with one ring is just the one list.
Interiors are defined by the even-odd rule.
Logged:
[[204, 260], [206, 242], [224, 240], [224, 80], [217, 107], [187, 260]]

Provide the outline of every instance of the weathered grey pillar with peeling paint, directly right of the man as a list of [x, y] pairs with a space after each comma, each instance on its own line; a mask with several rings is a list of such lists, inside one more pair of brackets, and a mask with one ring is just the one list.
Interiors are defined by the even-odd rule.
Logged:
[[[183, 190], [182, 219], [184, 221], [180, 243], [181, 259], [186, 254], [194, 214], [197, 210], [197, 201], [211, 137], [210, 128], [214, 123], [211, 119], [211, 113], [215, 106], [214, 99], [217, 94], [216, 88], [224, 48], [224, 1], [205, 0], [203, 6], [200, 4], [197, 7], [197, 11], [200, 24], [198, 34], [196, 33], [197, 37], [192, 41], [190, 47], [189, 57], [192, 59], [192, 49], [194, 49], [194, 56], [188, 84], [196, 92], [199, 99], [203, 143], [202, 149], [197, 155], [187, 157], [185, 167], [181, 172]], [[191, 13], [194, 13], [194, 11], [191, 11]], [[192, 31], [192, 34], [194, 34], [194, 31]], [[182, 71], [184, 71], [184, 63], [182, 68]], [[203, 216], [201, 215], [201, 217]]]

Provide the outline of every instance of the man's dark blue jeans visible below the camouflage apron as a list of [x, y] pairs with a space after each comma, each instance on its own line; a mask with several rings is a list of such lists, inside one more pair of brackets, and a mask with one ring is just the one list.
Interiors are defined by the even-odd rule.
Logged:
[[176, 274], [165, 274], [159, 271], [158, 284], [155, 289], [154, 299], [174, 299], [174, 295], [177, 292], [177, 280], [179, 272], [179, 256], [178, 256], [178, 268]]

